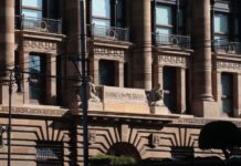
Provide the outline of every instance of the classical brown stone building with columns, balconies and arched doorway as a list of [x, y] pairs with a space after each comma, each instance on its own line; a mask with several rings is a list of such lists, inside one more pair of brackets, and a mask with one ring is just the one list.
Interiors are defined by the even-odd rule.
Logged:
[[[241, 126], [239, 0], [84, 0], [84, 21], [80, 1], [0, 0], [0, 165], [10, 102], [12, 165], [83, 164], [83, 23], [90, 156], [222, 157], [198, 136], [214, 120]], [[23, 92], [13, 76], [10, 95], [17, 66]], [[163, 105], [148, 101], [157, 86]]]

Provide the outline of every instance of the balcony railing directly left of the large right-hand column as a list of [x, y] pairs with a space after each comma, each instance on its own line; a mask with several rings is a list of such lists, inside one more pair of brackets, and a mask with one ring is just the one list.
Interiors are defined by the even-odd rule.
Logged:
[[190, 49], [190, 37], [187, 35], [176, 35], [176, 34], [154, 34], [155, 42], [157, 45], [170, 46], [170, 48], [180, 48], [180, 49]]

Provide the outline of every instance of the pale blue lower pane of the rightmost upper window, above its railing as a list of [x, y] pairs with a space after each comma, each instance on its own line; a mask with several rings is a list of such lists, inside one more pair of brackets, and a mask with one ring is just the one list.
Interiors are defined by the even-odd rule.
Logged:
[[228, 33], [228, 15], [214, 14], [214, 32]]

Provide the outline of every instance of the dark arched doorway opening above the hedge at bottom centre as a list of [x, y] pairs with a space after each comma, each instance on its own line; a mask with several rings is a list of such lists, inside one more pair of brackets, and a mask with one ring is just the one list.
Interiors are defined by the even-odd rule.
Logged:
[[136, 162], [142, 159], [139, 152], [136, 149], [136, 147], [128, 143], [116, 143], [112, 145], [107, 154], [113, 156], [133, 157]]

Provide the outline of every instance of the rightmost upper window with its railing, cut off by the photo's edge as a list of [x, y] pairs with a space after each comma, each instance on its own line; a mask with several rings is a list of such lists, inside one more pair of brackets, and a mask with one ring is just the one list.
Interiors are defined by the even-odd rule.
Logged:
[[214, 51], [240, 52], [240, 2], [216, 1], [213, 6], [213, 39]]

